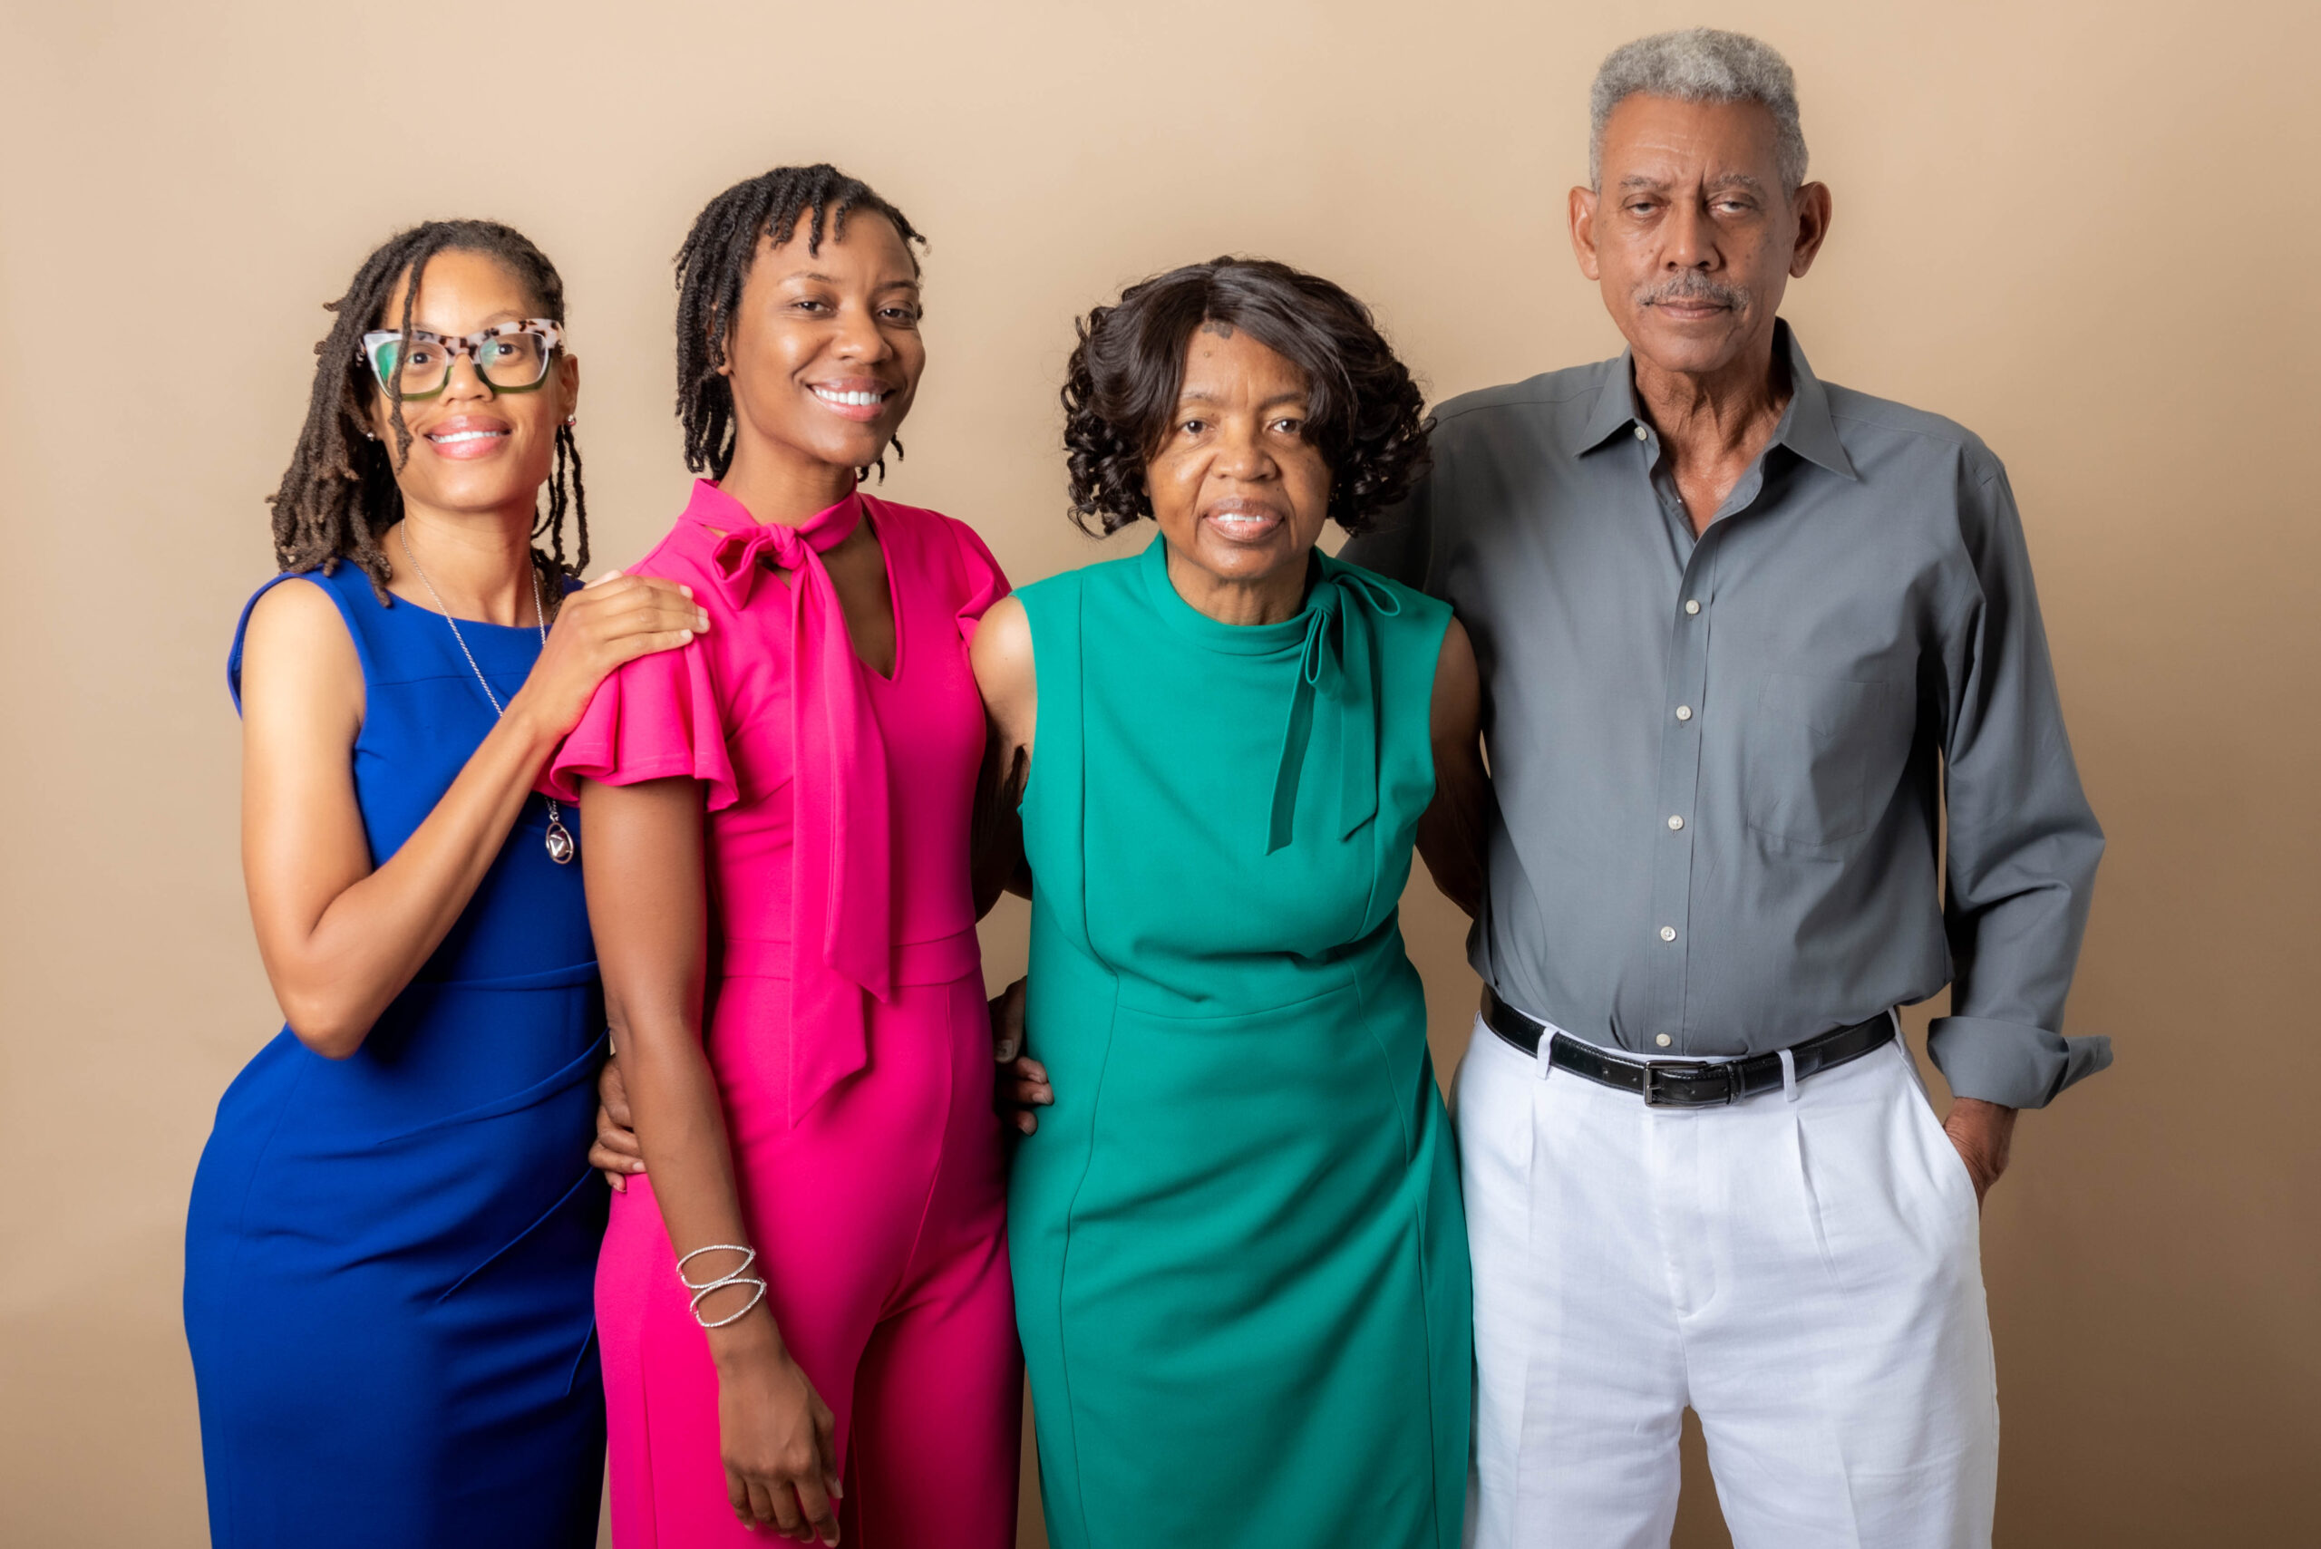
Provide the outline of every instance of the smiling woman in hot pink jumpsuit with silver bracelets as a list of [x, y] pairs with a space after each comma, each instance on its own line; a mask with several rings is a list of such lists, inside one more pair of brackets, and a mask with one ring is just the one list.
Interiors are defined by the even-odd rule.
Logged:
[[620, 1549], [1014, 1542], [963, 645], [1007, 582], [968, 526], [854, 489], [924, 362], [912, 237], [826, 167], [703, 211], [680, 401], [720, 480], [631, 570], [713, 628], [606, 679], [548, 777], [585, 807], [650, 1164], [596, 1271]]

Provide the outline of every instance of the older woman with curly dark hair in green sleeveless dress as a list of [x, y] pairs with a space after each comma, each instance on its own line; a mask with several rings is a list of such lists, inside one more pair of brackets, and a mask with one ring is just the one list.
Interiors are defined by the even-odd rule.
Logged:
[[[1458, 1166], [1397, 902], [1462, 904], [1488, 786], [1448, 608], [1316, 550], [1425, 457], [1367, 308], [1284, 264], [1082, 325], [1072, 499], [1135, 557], [975, 638], [1033, 877], [1010, 1241], [1058, 1549], [1451, 1549]], [[1044, 1069], [1042, 1069], [1044, 1067]]]

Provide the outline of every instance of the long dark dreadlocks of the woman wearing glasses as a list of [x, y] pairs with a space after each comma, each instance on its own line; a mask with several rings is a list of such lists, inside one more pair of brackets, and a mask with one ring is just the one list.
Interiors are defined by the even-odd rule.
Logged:
[[[334, 313], [330, 336], [313, 346], [313, 394], [306, 399], [306, 424], [283, 473], [281, 489], [267, 496], [274, 508], [274, 559], [283, 570], [337, 570], [355, 563], [371, 577], [371, 591], [388, 601], [388, 557], [378, 536], [404, 515], [395, 471], [411, 457], [411, 427], [404, 424], [402, 385], [388, 387], [388, 417], [395, 424], [395, 450], [369, 436], [371, 394], [381, 392], [362, 357], [362, 336], [374, 327], [399, 327], [404, 350], [411, 348], [411, 308], [418, 278], [436, 253], [485, 253], [497, 257], [532, 290], [541, 315], [564, 320], [564, 276], [532, 241], [497, 220], [427, 220], [397, 232], [362, 260], [355, 281], [323, 311]], [[402, 318], [385, 315], [397, 281], [404, 288]], [[548, 580], [550, 610], [564, 594], [559, 577], [587, 568], [587, 494], [580, 487], [580, 443], [569, 424], [557, 427], [557, 466], [548, 480], [545, 508], [532, 522], [534, 538], [548, 538], [548, 552], [532, 550], [532, 563]], [[564, 559], [564, 517], [573, 519], [576, 557]]]

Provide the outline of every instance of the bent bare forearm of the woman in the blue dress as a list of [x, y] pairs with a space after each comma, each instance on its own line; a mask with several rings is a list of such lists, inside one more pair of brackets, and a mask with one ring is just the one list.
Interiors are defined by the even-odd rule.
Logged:
[[555, 737], [529, 717], [499, 721], [385, 865], [339, 890], [304, 932], [260, 932], [274, 997], [309, 1048], [346, 1057], [362, 1046], [476, 895], [552, 751]]

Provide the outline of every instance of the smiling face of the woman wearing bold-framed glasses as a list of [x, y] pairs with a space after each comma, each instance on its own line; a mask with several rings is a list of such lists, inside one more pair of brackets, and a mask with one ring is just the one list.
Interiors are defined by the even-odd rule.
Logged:
[[[536, 318], [541, 299], [490, 253], [448, 248], [427, 260], [411, 327], [446, 339], [494, 322]], [[404, 285], [388, 294], [374, 327], [399, 329]], [[580, 364], [564, 352], [538, 392], [492, 392], [471, 357], [453, 362], [450, 380], [432, 399], [404, 399], [411, 452], [395, 471], [406, 515], [508, 517], [529, 529], [541, 485], [555, 466], [557, 424], [580, 401]], [[388, 397], [371, 387], [371, 431], [395, 454]]]

